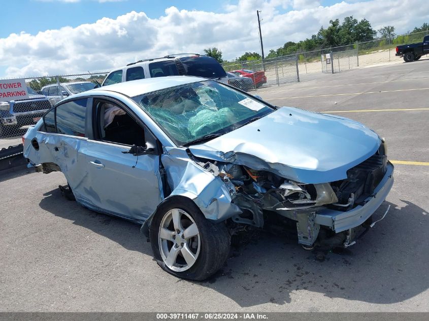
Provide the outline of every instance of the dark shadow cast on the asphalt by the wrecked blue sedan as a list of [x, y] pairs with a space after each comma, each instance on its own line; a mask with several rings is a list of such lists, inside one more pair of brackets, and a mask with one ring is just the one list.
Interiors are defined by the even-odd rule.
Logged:
[[[407, 205], [402, 208], [384, 202], [375, 213], [375, 218], [380, 217], [391, 205], [383, 221], [352, 247], [325, 253], [324, 261], [317, 261], [315, 252], [304, 251], [296, 239], [260, 232], [241, 244], [215, 276], [197, 283], [241, 307], [289, 303], [299, 299], [299, 291], [375, 304], [410, 299], [429, 286], [425, 238], [429, 216], [415, 204], [403, 202]], [[139, 225], [64, 200], [58, 189], [46, 193], [40, 206], [126, 249], [152, 254]]]

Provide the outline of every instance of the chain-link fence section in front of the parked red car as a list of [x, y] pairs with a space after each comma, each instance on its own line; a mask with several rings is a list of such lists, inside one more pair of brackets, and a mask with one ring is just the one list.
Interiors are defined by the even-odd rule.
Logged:
[[226, 62], [222, 64], [228, 82], [242, 90], [299, 82], [297, 56]]

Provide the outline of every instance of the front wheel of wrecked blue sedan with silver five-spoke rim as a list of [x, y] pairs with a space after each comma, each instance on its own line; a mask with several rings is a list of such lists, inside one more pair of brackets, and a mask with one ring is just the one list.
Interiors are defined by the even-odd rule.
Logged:
[[204, 280], [219, 270], [229, 255], [230, 235], [225, 224], [208, 221], [191, 200], [161, 205], [149, 232], [156, 262], [177, 277]]

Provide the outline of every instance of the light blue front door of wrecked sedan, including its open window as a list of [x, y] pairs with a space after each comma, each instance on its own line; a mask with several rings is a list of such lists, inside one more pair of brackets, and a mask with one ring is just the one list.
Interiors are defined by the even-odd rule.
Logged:
[[[86, 194], [98, 210], [143, 222], [163, 195], [155, 138], [123, 104], [94, 99], [92, 109], [93, 139], [83, 151], [91, 182]], [[132, 145], [145, 144], [154, 151], [139, 156], [128, 153]]]

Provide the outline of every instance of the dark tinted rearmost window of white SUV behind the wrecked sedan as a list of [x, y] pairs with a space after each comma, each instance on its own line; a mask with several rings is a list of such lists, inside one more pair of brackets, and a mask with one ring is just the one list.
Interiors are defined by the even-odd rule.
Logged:
[[186, 75], [204, 77], [204, 78], [221, 78], [226, 77], [225, 70], [223, 70], [217, 60], [211, 57], [183, 57], [179, 58], [183, 63]]

